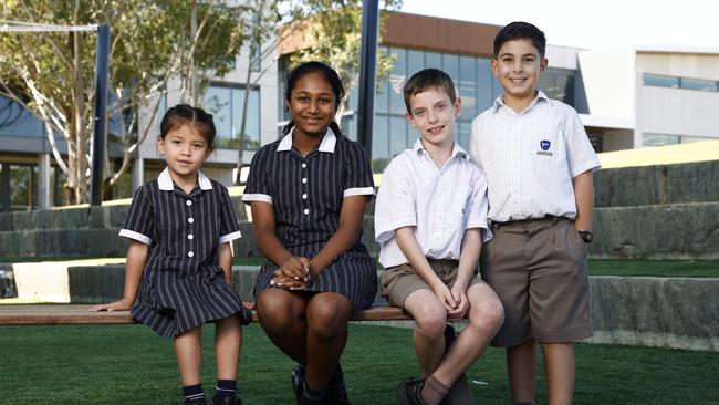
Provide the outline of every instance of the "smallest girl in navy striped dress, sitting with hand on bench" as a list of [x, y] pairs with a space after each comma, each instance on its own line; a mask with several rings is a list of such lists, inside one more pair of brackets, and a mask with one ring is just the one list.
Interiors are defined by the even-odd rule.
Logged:
[[200, 330], [210, 321], [218, 377], [212, 404], [241, 403], [236, 395], [240, 324], [251, 320], [230, 284], [230, 243], [241, 235], [229, 194], [199, 170], [212, 153], [215, 133], [212, 116], [200, 108], [179, 104], [167, 111], [157, 139], [167, 168], [135, 191], [119, 231], [129, 240], [125, 293], [91, 309], [132, 307], [134, 319], [174, 338], [185, 404], [206, 404]]

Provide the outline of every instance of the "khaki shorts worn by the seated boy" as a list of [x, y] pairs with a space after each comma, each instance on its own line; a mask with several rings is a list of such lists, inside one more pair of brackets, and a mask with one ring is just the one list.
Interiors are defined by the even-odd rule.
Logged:
[[[457, 260], [427, 259], [435, 274], [450, 289], [457, 281], [459, 262]], [[389, 301], [392, 307], [405, 309], [407, 297], [417, 290], [429, 290], [431, 288], [423, 280], [415, 269], [409, 264], [390, 267], [382, 272], [379, 277], [382, 297]], [[469, 285], [481, 283], [481, 278], [476, 273], [469, 280]], [[468, 285], [468, 287], [469, 287]]]

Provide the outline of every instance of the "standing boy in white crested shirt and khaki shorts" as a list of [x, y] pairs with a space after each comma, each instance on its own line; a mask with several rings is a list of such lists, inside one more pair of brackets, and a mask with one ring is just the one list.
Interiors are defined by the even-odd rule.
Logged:
[[503, 94], [472, 122], [469, 153], [487, 175], [493, 238], [482, 274], [504, 305], [491, 344], [507, 347], [512, 401], [534, 403], [539, 342], [549, 403], [563, 405], [574, 395], [573, 342], [592, 335], [586, 257], [600, 160], [574, 108], [536, 89], [545, 44], [527, 22], [497, 34]]

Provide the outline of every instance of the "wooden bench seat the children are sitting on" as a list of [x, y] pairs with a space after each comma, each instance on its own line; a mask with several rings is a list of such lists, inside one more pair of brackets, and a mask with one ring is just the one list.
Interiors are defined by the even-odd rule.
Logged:
[[[0, 325], [46, 324], [128, 324], [136, 323], [129, 311], [90, 312], [92, 305], [80, 304], [27, 304], [0, 305]], [[376, 304], [352, 314], [352, 321], [406, 321], [411, 320], [400, 309]], [[257, 322], [257, 312], [252, 311]]]

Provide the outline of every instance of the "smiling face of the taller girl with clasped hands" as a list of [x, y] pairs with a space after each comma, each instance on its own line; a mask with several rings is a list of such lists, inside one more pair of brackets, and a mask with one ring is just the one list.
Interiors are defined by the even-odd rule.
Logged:
[[334, 120], [336, 101], [332, 85], [317, 72], [298, 79], [288, 103], [295, 135], [323, 136]]

